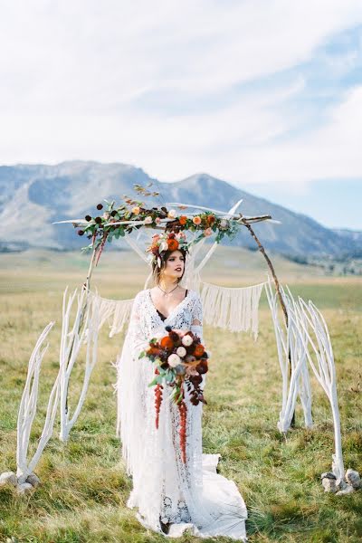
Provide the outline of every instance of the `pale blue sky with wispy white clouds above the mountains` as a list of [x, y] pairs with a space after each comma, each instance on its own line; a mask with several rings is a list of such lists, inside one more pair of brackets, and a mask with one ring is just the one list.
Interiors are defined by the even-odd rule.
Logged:
[[0, 51], [1, 165], [205, 172], [362, 230], [362, 0], [2, 0]]

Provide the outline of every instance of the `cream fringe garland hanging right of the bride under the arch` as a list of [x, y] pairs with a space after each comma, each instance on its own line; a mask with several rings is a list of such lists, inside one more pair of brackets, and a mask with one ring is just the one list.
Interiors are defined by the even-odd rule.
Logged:
[[251, 287], [227, 288], [201, 283], [205, 324], [232, 332], [252, 330], [258, 337], [259, 300], [265, 282]]

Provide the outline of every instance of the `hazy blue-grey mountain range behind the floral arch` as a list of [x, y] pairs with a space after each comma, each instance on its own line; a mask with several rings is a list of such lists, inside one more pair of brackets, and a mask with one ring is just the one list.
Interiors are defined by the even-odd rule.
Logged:
[[[88, 161], [0, 167], [0, 250], [31, 246], [60, 251], [80, 248], [85, 240], [75, 234], [70, 224], [52, 222], [96, 214], [95, 206], [103, 199], [120, 203], [123, 195], [135, 195], [135, 183], [145, 186], [149, 182], [164, 203], [228, 210], [243, 198], [239, 208], [243, 214], [271, 214], [281, 221], [254, 226], [265, 248], [273, 252], [296, 257], [348, 255], [361, 250], [360, 232], [325, 228], [304, 214], [293, 213], [207, 174], [161, 183], [138, 167]], [[233, 244], [255, 247], [246, 229]]]

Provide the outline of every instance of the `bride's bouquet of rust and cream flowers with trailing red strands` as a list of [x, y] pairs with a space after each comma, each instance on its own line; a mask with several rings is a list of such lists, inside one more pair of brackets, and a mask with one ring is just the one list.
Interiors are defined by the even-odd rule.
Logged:
[[166, 330], [167, 336], [152, 338], [148, 348], [140, 353], [139, 358], [148, 357], [155, 365], [155, 378], [148, 386], [155, 386], [156, 428], [158, 428], [163, 388], [164, 386], [173, 388], [171, 399], [178, 406], [180, 414], [181, 456], [185, 463], [187, 411], [185, 386], [193, 405], [198, 405], [200, 402], [206, 404], [200, 385], [203, 374], [208, 370], [208, 355], [200, 338], [193, 332], [189, 331], [181, 336], [169, 326]]

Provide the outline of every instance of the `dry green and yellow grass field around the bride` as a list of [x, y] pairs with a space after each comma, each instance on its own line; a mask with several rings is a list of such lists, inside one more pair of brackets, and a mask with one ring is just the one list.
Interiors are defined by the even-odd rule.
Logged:
[[[1, 417], [0, 472], [15, 470], [16, 416], [27, 362], [45, 325], [55, 320], [50, 347], [43, 360], [39, 409], [32, 447], [43, 428], [52, 379], [57, 374], [62, 292], [85, 279], [89, 257], [81, 253], [33, 251], [0, 257]], [[274, 260], [283, 284], [313, 300], [329, 323], [338, 373], [343, 451], [346, 467], [362, 472], [362, 289], [356, 278], [325, 277], [316, 268]], [[220, 248], [210, 261], [205, 281], [249, 285], [265, 281], [266, 268], [257, 252]], [[147, 270], [137, 255], [102, 255], [93, 288], [110, 299], [132, 297], [143, 288]], [[327, 398], [313, 384], [314, 427], [303, 428], [300, 406], [297, 424], [285, 441], [278, 432], [281, 376], [271, 317], [265, 299], [256, 342], [205, 328], [213, 353], [204, 410], [205, 452], [220, 452], [220, 472], [238, 485], [249, 511], [251, 542], [362, 540], [362, 491], [337, 497], [325, 494], [321, 472], [329, 471], [333, 426]], [[146, 531], [125, 507], [131, 481], [120, 461], [115, 436], [116, 397], [112, 384], [122, 336], [100, 333], [98, 366], [71, 439], [58, 440], [56, 425], [35, 472], [43, 482], [32, 496], [0, 490], [0, 540], [19, 542], [157, 542], [162, 536]], [[77, 375], [71, 400], [79, 392]], [[74, 404], [71, 402], [71, 405]], [[33, 452], [33, 448], [31, 449]], [[185, 536], [181, 543], [194, 541]], [[227, 538], [209, 541], [226, 542]], [[208, 541], [208, 539], [205, 539]]]

